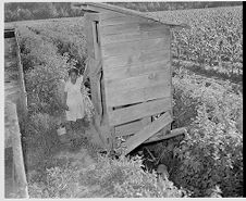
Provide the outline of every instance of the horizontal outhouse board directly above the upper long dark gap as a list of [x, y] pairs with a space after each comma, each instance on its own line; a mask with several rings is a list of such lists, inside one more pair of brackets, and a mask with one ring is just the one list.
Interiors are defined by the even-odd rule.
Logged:
[[153, 87], [145, 87], [135, 90], [121, 90], [119, 92], [109, 93], [107, 97], [107, 105], [120, 106], [167, 97], [171, 97], [171, 85], [161, 84]]

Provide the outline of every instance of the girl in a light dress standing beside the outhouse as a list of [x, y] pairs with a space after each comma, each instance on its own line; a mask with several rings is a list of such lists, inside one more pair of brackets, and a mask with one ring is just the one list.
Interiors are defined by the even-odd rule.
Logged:
[[85, 116], [84, 96], [81, 92], [83, 76], [78, 76], [76, 68], [71, 68], [69, 76], [64, 88], [64, 109], [66, 110], [67, 130], [74, 133], [76, 121], [82, 121]]

